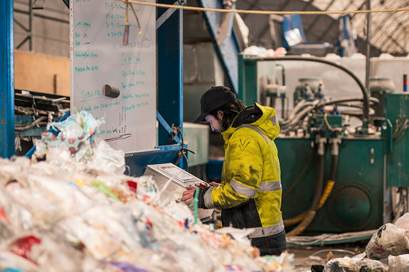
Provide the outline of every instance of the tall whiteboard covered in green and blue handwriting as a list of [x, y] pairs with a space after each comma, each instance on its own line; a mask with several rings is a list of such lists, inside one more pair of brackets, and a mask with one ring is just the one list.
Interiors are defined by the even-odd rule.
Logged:
[[[122, 45], [122, 1], [70, 0], [71, 114], [103, 118], [99, 138], [126, 153], [156, 146], [156, 10], [132, 6], [142, 34], [129, 7], [129, 43]], [[119, 95], [107, 97], [105, 85]]]

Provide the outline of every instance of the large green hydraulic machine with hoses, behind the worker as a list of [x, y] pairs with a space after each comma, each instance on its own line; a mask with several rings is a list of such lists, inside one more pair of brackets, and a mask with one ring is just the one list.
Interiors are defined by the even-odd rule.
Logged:
[[[239, 98], [260, 102], [261, 63], [287, 60], [338, 67], [362, 89], [361, 97], [331, 99], [321, 78], [300, 77], [294, 107], [282, 107], [275, 143], [287, 234], [378, 229], [408, 212], [409, 94], [395, 93], [387, 78], [373, 78], [367, 92], [346, 67], [321, 58], [239, 55]], [[395, 205], [395, 197], [404, 201]]]

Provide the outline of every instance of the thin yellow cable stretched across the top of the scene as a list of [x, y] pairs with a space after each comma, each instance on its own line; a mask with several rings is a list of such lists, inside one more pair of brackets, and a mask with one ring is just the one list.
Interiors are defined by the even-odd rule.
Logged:
[[409, 11], [409, 8], [401, 8], [401, 9], [378, 9], [378, 10], [362, 10], [362, 11], [246, 11], [243, 9], [207, 9], [207, 8], [200, 8], [194, 6], [176, 6], [176, 5], [169, 5], [169, 4], [156, 4], [156, 3], [146, 3], [140, 1], [130, 1], [130, 0], [121, 0], [124, 3], [132, 3], [132, 4], [139, 4], [145, 6], [156, 6], [159, 8], [168, 8], [168, 9], [186, 9], [191, 11], [217, 11], [217, 12], [225, 12], [225, 13], [253, 13], [253, 14], [277, 14], [277, 15], [285, 15], [285, 14], [354, 14], [354, 13], [382, 13], [382, 12], [398, 12], [398, 11]]

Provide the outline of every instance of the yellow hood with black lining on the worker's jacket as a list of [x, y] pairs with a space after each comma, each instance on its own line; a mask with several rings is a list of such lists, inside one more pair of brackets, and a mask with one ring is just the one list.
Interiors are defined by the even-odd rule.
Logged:
[[222, 132], [223, 139], [228, 141], [234, 131], [243, 124], [257, 126], [272, 140], [277, 138], [278, 134], [280, 134], [280, 126], [278, 124], [277, 115], [275, 114], [275, 109], [255, 103], [252, 106], [245, 107], [245, 109], [235, 116], [229, 128]]

